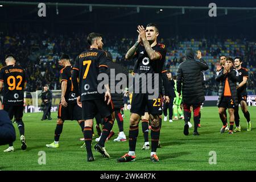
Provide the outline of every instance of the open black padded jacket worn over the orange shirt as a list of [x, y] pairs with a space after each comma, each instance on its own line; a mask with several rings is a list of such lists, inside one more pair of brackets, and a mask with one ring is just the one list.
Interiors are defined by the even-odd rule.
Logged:
[[228, 81], [229, 81], [232, 100], [234, 101], [235, 105], [238, 106], [238, 100], [237, 100], [238, 72], [236, 71], [236, 69], [232, 69], [228, 74], [224, 74], [223, 69], [217, 72], [217, 76], [215, 77], [215, 80], [220, 82], [220, 87], [218, 88], [217, 106], [220, 105], [221, 98], [224, 94], [226, 78], [228, 78]]

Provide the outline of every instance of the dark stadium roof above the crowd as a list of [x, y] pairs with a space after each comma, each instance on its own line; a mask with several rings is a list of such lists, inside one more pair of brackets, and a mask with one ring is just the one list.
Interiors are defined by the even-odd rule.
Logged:
[[[184, 33], [201, 35], [202, 32], [255, 36], [256, 32], [256, 1], [214, 1], [217, 5], [216, 17], [210, 17], [208, 14], [208, 6], [212, 2], [208, 0], [157, 1], [157, 4], [156, 1], [70, 2], [72, 3], [46, 2], [47, 16], [42, 18], [38, 16], [39, 2], [2, 1], [0, 28], [10, 30], [9, 27], [13, 23], [40, 23], [55, 30], [104, 29], [102, 31], [117, 33], [133, 32], [138, 24], [154, 22], [159, 25], [160, 30], [164, 30], [161, 31], [163, 36]], [[136, 31], [134, 33], [136, 34]]]

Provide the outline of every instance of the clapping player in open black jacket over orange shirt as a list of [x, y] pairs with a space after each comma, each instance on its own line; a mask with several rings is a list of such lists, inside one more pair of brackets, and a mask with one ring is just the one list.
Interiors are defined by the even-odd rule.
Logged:
[[225, 68], [217, 72], [215, 80], [220, 82], [220, 87], [218, 89], [218, 114], [223, 123], [221, 128], [221, 133], [225, 132], [228, 123], [225, 117], [225, 109], [229, 109], [229, 134], [233, 134], [234, 126], [234, 109], [238, 106], [237, 99], [237, 81], [238, 72], [233, 67], [234, 61], [232, 57], [226, 58]]

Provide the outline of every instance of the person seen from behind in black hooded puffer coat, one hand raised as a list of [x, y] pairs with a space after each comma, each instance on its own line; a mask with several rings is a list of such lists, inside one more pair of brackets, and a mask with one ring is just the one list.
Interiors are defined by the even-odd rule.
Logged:
[[181, 63], [177, 70], [177, 92], [179, 96], [183, 94], [184, 109], [184, 135], [188, 135], [188, 121], [191, 114], [190, 106], [193, 106], [194, 132], [193, 135], [199, 135], [197, 127], [200, 119], [200, 106], [205, 100], [203, 82], [201, 81], [201, 71], [206, 71], [209, 67], [202, 59], [201, 51], [197, 51], [197, 59], [191, 48], [185, 51], [185, 61]]

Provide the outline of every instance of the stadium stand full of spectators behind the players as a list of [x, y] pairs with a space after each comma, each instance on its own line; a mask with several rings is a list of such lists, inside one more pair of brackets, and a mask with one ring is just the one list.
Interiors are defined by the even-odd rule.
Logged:
[[[51, 89], [60, 89], [60, 67], [57, 60], [61, 53], [69, 53], [74, 60], [83, 49], [88, 48], [85, 34], [49, 34], [44, 30], [43, 34], [15, 34], [9, 36], [1, 34], [0, 52], [1, 63], [4, 65], [4, 57], [7, 53], [13, 53], [22, 67], [26, 68], [28, 84], [27, 91], [41, 90], [42, 85], [49, 84]], [[133, 70], [134, 60], [125, 60], [125, 53], [136, 40], [134, 38], [122, 38], [105, 35], [104, 48], [110, 51], [114, 61], [124, 67]], [[205, 72], [207, 82], [205, 95], [217, 95], [217, 85], [214, 81], [215, 64], [218, 55], [240, 56], [243, 67], [249, 69], [249, 82], [247, 89], [249, 94], [255, 94], [255, 66], [256, 46], [253, 41], [242, 39], [160, 39], [159, 42], [166, 44], [167, 56], [166, 67], [176, 75], [177, 67], [183, 60], [184, 51], [188, 47], [194, 50], [200, 49], [204, 59], [209, 64], [209, 70]]]

